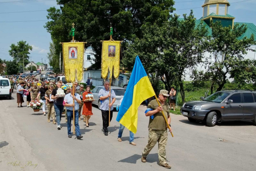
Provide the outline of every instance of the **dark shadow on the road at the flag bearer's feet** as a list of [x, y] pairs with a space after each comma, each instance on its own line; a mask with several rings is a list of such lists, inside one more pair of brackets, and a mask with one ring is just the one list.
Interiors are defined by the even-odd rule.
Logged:
[[[134, 154], [130, 157], [127, 157], [123, 160], [119, 160], [118, 162], [127, 162], [127, 163], [133, 163], [133, 164], [136, 164], [137, 160], [140, 161], [141, 159], [141, 155], [139, 154]], [[153, 162], [158, 162], [158, 154], [155, 153], [155, 154], [148, 154], [147, 156], [147, 162], [149, 163], [153, 163]]]

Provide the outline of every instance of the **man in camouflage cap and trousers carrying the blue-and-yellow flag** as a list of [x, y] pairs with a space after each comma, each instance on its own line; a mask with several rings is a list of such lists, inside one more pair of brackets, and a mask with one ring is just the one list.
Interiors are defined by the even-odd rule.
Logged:
[[[169, 114], [169, 105], [166, 102], [168, 96], [167, 90], [160, 90], [158, 97], [160, 106], [157, 103], [157, 99], [152, 100], [148, 104], [148, 108], [145, 111], [145, 115], [150, 117], [148, 124], [148, 144], [145, 146], [141, 157], [141, 161], [146, 162], [147, 155], [158, 142], [159, 165], [164, 168], [171, 168], [171, 166], [166, 163], [165, 148], [167, 143], [167, 124], [161, 112], [163, 111], [165, 117], [168, 118], [168, 124], [170, 125], [171, 117]], [[172, 131], [172, 129], [170, 131]]]

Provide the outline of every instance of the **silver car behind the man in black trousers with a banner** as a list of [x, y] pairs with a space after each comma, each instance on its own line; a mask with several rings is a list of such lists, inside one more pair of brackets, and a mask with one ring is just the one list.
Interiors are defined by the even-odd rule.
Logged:
[[[93, 98], [95, 99], [93, 101], [93, 104], [98, 105], [98, 107], [100, 107], [100, 105], [101, 105], [101, 102], [99, 100], [99, 91], [102, 88], [104, 88], [104, 86], [103, 85], [99, 85], [99, 86], [93, 88], [93, 90], [92, 90]], [[111, 86], [111, 90], [113, 90], [115, 92], [115, 94], [116, 94], [116, 101], [113, 104], [113, 107], [116, 108], [116, 105], [119, 104], [120, 100], [125, 95], [125, 88]]]

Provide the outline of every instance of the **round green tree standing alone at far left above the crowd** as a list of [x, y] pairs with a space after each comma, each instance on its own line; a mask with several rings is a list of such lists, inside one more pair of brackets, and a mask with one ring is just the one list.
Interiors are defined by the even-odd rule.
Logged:
[[18, 63], [23, 64], [24, 57], [24, 65], [29, 63], [29, 50], [32, 51], [32, 46], [29, 46], [29, 43], [26, 41], [20, 40], [17, 45], [12, 44], [10, 46], [11, 50], [9, 50], [9, 55], [13, 56], [13, 60]]

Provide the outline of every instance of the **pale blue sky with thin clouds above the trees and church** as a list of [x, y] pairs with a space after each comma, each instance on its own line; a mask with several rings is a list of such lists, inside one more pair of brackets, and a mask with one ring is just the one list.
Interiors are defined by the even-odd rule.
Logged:
[[[17, 44], [18, 41], [25, 40], [33, 47], [29, 55], [32, 61], [35, 63], [49, 62], [47, 52], [49, 51], [51, 36], [44, 28], [47, 22], [47, 11], [45, 10], [52, 6], [56, 8], [59, 8], [59, 6], [56, 0], [29, 1], [33, 2], [28, 2], [28, 0], [0, 0], [0, 58], [2, 60], [12, 60], [8, 53], [11, 44]], [[236, 17], [235, 22], [254, 23], [256, 25], [256, 0], [240, 1], [244, 0], [229, 0], [228, 14]], [[204, 0], [176, 0], [174, 6], [176, 11], [173, 13], [182, 17], [185, 13], [189, 14], [190, 9], [192, 9], [195, 17], [199, 19], [203, 14], [201, 7], [203, 4]]]

